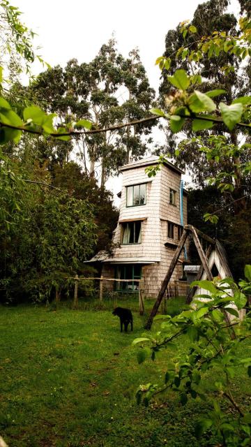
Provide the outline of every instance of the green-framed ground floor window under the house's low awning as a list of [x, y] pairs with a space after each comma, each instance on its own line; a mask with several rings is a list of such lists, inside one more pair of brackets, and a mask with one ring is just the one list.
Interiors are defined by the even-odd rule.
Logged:
[[135, 292], [139, 290], [139, 282], [135, 279], [141, 279], [142, 266], [139, 264], [121, 264], [116, 266], [116, 279], [128, 279], [128, 281], [116, 281], [115, 290], [124, 292]]

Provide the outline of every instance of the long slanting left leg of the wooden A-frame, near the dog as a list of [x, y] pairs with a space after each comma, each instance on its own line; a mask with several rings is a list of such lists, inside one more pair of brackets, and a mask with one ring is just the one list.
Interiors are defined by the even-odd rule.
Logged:
[[164, 281], [162, 282], [162, 286], [160, 288], [160, 292], [158, 293], [158, 297], [156, 298], [155, 303], [153, 305], [153, 309], [151, 311], [149, 319], [146, 321], [146, 325], [144, 326], [145, 329], [151, 329], [151, 325], [153, 323], [153, 318], [155, 317], [155, 315], [158, 312], [158, 308], [160, 307], [160, 302], [162, 301], [164, 293], [167, 290], [167, 286], [168, 286], [169, 281], [172, 277], [172, 273], [174, 272], [174, 268], [176, 266], [176, 263], [178, 261], [180, 254], [181, 254], [181, 250], [183, 249], [183, 247], [185, 245], [185, 241], [186, 241], [187, 237], [188, 237], [188, 230], [184, 229], [182, 236], [181, 236], [181, 240], [178, 242], [178, 247], [176, 248], [176, 251], [174, 253], [174, 257], [172, 258], [172, 262], [169, 265], [168, 272], [165, 276]]

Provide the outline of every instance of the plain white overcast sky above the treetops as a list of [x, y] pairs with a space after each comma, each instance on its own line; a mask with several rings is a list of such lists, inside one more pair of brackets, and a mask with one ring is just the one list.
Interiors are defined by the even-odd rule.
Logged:
[[[69, 59], [89, 62], [103, 43], [116, 38], [118, 50], [124, 57], [139, 47], [142, 63], [151, 87], [158, 91], [160, 70], [155, 59], [165, 50], [165, 35], [179, 22], [191, 20], [201, 0], [12, 0], [20, 8], [22, 22], [38, 34], [43, 59], [51, 66], [64, 66]], [[237, 0], [230, 10], [239, 10]], [[43, 71], [36, 64], [35, 74]], [[120, 189], [120, 180], [107, 186]]]

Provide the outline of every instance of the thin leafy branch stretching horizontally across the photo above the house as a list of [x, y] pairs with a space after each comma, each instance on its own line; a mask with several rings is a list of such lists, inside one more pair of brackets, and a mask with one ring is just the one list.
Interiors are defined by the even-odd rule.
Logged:
[[[170, 127], [174, 133], [181, 131], [185, 120], [192, 121], [193, 131], [211, 129], [214, 124], [223, 123], [230, 132], [234, 129], [234, 126], [240, 126], [243, 129], [251, 130], [251, 124], [241, 122], [242, 115], [245, 116], [246, 110], [249, 110], [250, 108], [250, 96], [237, 98], [231, 105], [220, 103], [220, 110], [217, 110], [216, 105], [211, 98], [213, 96], [218, 96], [222, 91], [214, 90], [204, 94], [195, 90], [192, 94], [188, 94], [186, 89], [188, 89], [190, 85], [190, 79], [183, 70], [176, 71], [174, 76], [170, 76], [169, 78], [172, 78], [170, 82], [172, 82], [173, 85], [178, 85], [181, 88], [174, 97], [169, 98], [169, 103], [172, 105], [172, 107], [170, 106], [171, 113], [162, 112], [160, 109], [151, 109], [150, 112], [152, 112], [153, 115], [150, 117], [128, 123], [119, 123], [105, 129], [95, 129], [95, 124], [87, 119], [80, 119], [77, 122], [70, 122], [65, 126], [56, 128], [54, 126], [56, 114], [47, 114], [43, 112], [43, 110], [40, 110], [36, 105], [31, 105], [24, 108], [22, 117], [20, 117], [20, 115], [17, 115], [17, 112], [11, 108], [6, 99], [0, 98], [0, 144], [6, 144], [6, 142], [11, 140], [17, 144], [21, 138], [22, 132], [44, 135], [45, 137], [50, 136], [67, 141], [70, 140], [70, 137], [81, 135], [82, 133], [88, 135], [114, 129], [122, 129], [123, 127], [151, 121], [158, 117], [169, 119]], [[221, 114], [221, 117], [204, 114], [204, 112], [213, 111]], [[87, 130], [75, 130], [81, 128]]]

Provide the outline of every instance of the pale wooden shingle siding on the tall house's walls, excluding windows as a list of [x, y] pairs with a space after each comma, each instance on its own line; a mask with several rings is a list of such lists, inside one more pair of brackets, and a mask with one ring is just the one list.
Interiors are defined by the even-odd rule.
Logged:
[[[143, 160], [142, 163], [143, 164]], [[149, 162], [146, 163], [146, 165]], [[155, 259], [159, 262], [142, 265], [142, 277], [144, 279], [144, 295], [155, 298], [158, 294], [162, 280], [167, 273], [169, 264], [174, 256], [175, 246], [165, 247], [167, 242], [167, 221], [180, 224], [180, 197], [179, 189], [181, 173], [171, 167], [162, 166], [155, 177], [149, 177], [145, 173], [146, 166], [134, 166], [123, 170], [123, 185], [121, 189], [121, 206], [119, 221], [126, 219], [140, 219], [142, 221], [142, 242], [140, 244], [121, 244], [122, 225], [118, 223], [114, 232], [114, 243], [121, 244], [114, 250], [114, 258], [144, 258]], [[146, 204], [138, 206], [126, 206], [126, 186], [142, 184], [146, 182]], [[176, 191], [176, 205], [169, 203], [170, 189]], [[187, 198], [183, 196], [183, 223], [187, 223]], [[104, 267], [104, 271], [107, 270]], [[172, 281], [182, 276], [182, 265], [177, 265], [172, 275]]]

